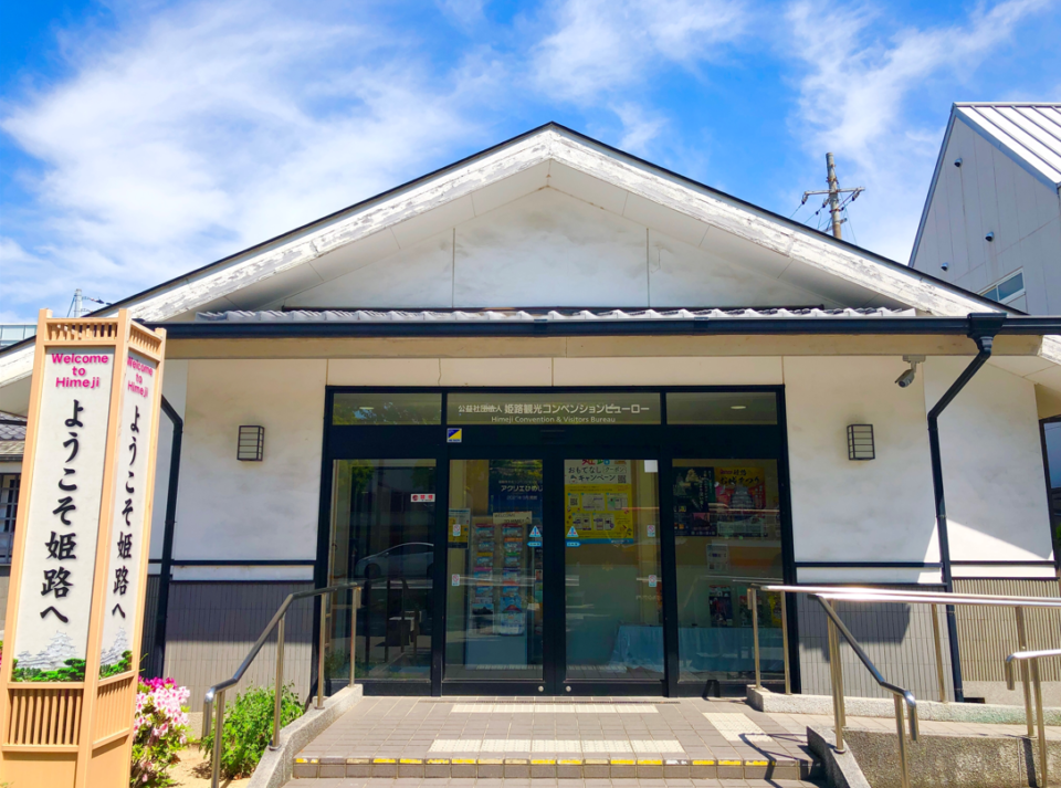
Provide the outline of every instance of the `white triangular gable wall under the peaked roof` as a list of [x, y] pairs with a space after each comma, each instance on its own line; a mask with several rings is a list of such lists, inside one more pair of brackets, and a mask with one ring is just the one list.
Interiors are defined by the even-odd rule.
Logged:
[[662, 208], [653, 212], [648, 204], [628, 206], [621, 191], [614, 200], [601, 202], [539, 189], [422, 240], [417, 235], [411, 245], [376, 244], [377, 254], [387, 256], [367, 264], [351, 261], [349, 273], [291, 295], [284, 304], [309, 308], [839, 304], [820, 287], [781, 281], [790, 261], [773, 270], [727, 243], [726, 233], [707, 232], [706, 225], [690, 219], [675, 223], [673, 212]]

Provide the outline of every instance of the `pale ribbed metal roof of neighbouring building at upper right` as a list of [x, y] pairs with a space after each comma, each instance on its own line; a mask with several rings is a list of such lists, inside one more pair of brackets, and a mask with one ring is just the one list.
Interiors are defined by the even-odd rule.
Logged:
[[955, 112], [1061, 189], [1061, 104], [962, 103]]

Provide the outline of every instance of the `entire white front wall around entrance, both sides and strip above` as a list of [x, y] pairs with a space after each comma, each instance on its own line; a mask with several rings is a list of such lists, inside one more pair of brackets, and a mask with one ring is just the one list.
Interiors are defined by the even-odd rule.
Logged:
[[[627, 368], [629, 385], [785, 385], [797, 564], [934, 564], [939, 553], [926, 403], [968, 360], [934, 358], [905, 389], [894, 380], [906, 364], [891, 356], [192, 360], [175, 558], [315, 557], [326, 385], [614, 386], [624, 382], [617, 370]], [[265, 427], [263, 463], [235, 460], [241, 423]], [[873, 424], [875, 460], [848, 459], [851, 423]], [[986, 367], [941, 428], [953, 557], [1050, 559], [1033, 384]], [[1042, 574], [1034, 566], [955, 568], [959, 577]], [[176, 572], [187, 579], [251, 575], [300, 579], [309, 568]], [[938, 582], [939, 571], [803, 567], [798, 579]]]

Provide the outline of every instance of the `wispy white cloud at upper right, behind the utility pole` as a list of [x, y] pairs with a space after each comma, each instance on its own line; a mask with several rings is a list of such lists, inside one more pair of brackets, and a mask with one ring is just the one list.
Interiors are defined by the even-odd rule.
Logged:
[[[910, 255], [946, 118], [941, 107], [929, 127], [911, 122], [911, 94], [941, 75], [967, 78], [1047, 3], [978, 6], [959, 23], [907, 27], [890, 40], [880, 34], [886, 9], [831, 9], [824, 24], [820, 6], [789, 6], [786, 40], [806, 67], [794, 130], [808, 154], [837, 155], [842, 186], [868, 188], [850, 211], [861, 245], [902, 262]], [[821, 171], [823, 180], [823, 162]]]

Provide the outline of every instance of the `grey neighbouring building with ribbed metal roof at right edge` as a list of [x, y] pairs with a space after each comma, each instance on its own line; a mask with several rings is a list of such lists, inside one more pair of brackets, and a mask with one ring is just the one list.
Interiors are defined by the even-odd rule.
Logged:
[[910, 264], [1061, 315], [1061, 104], [955, 104]]

